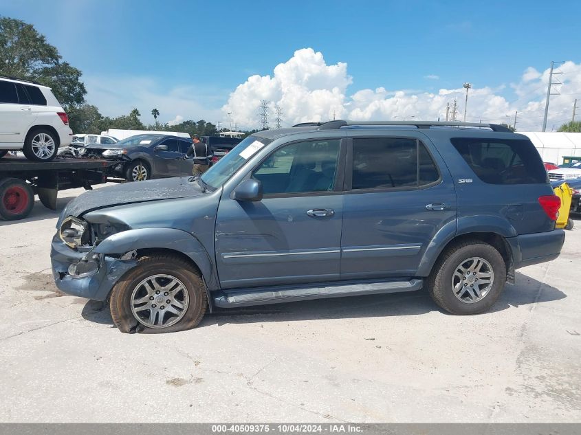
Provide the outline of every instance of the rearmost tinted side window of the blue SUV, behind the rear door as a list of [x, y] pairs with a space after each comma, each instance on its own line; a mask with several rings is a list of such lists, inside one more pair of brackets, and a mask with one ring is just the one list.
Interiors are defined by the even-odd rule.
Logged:
[[547, 183], [545, 166], [529, 140], [454, 138], [451, 141], [476, 177], [485, 183]]

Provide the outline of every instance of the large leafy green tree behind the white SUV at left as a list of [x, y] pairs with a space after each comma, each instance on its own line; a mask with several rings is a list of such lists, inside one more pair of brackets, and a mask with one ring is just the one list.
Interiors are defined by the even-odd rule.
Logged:
[[85, 102], [87, 89], [80, 81], [80, 70], [61, 60], [58, 49], [34, 26], [0, 16], [0, 74], [51, 87], [68, 111]]

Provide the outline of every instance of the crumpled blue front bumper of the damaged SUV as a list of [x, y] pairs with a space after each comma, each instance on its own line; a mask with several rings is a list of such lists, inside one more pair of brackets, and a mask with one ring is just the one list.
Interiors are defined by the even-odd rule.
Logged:
[[59, 290], [81, 298], [105, 300], [113, 285], [137, 265], [137, 260], [133, 259], [89, 254], [88, 261], [84, 261], [85, 256], [87, 252], [78, 252], [65, 245], [58, 234], [54, 236], [50, 260], [54, 283]]

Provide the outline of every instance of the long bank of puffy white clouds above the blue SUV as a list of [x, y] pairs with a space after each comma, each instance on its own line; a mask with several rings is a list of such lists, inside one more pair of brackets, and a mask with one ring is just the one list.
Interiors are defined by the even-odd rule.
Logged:
[[[564, 63], [559, 69], [563, 85], [560, 96], [551, 96], [547, 129], [558, 128], [570, 120], [575, 95], [581, 97], [581, 64]], [[438, 76], [425, 76], [436, 79]], [[473, 85], [468, 97], [468, 122], [514, 122], [518, 111], [517, 129], [539, 130], [545, 107], [549, 71], [539, 72], [529, 67], [509, 89]], [[274, 105], [283, 109], [283, 125], [298, 122], [353, 120], [441, 120], [446, 119], [446, 104], [457, 101], [457, 120], [463, 120], [465, 89], [439, 89], [437, 92], [418, 90], [362, 89], [350, 96], [352, 82], [347, 64], [327, 65], [320, 52], [311, 48], [297, 50], [294, 56], [274, 68], [274, 74], [254, 75], [239, 85], [228, 103], [222, 107], [224, 118], [232, 113], [239, 126], [256, 128], [260, 100], [269, 100], [270, 125], [274, 124]], [[516, 98], [507, 98], [509, 90]], [[554, 88], [555, 90], [558, 87]], [[450, 115], [451, 116], [451, 115]], [[580, 115], [581, 118], [581, 115]]]

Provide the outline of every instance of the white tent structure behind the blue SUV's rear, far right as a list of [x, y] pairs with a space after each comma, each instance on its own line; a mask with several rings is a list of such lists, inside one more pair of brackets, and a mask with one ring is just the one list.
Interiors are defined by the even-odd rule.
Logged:
[[518, 131], [528, 136], [538, 150], [542, 161], [563, 164], [563, 157], [581, 158], [581, 133], [541, 133], [538, 131]]

